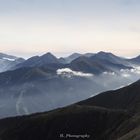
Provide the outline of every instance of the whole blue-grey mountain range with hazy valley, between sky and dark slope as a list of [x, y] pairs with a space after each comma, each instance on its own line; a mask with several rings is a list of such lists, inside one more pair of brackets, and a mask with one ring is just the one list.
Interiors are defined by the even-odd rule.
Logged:
[[[126, 86], [140, 76], [139, 57], [126, 59], [106, 52], [75, 53], [69, 63], [51, 53], [27, 60], [1, 55], [5, 58], [14, 65], [0, 73], [0, 118], [64, 107]], [[19, 59], [22, 62], [15, 63]]]

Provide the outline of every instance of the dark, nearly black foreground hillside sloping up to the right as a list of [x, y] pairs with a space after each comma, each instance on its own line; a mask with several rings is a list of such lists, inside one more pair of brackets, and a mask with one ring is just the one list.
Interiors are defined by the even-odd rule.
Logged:
[[138, 140], [140, 81], [49, 112], [0, 120], [2, 140]]

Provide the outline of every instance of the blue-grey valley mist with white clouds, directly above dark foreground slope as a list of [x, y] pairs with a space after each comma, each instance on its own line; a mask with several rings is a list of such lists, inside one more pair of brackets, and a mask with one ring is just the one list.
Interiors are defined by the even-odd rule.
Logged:
[[58, 69], [40, 80], [25, 81], [0, 88], [0, 118], [27, 115], [64, 107], [137, 81], [140, 68], [121, 69], [100, 75]]

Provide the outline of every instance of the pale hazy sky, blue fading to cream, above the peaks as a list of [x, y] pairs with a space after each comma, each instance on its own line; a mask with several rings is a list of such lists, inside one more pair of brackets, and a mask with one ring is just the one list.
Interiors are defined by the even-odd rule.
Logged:
[[0, 0], [0, 51], [140, 54], [140, 0]]

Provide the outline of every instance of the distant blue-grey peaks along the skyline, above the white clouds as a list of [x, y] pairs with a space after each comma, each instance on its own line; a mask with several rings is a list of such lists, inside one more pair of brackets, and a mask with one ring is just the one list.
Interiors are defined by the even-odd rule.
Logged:
[[108, 52], [99, 53], [74, 53], [65, 58], [57, 58], [51, 53], [42, 56], [33, 56], [27, 60], [11, 55], [0, 54], [1, 72], [15, 70], [23, 67], [50, 67], [71, 68], [72, 70], [101, 74], [105, 71], [117, 71], [121, 69], [132, 69], [134, 65], [140, 65], [140, 57], [126, 59], [115, 56]]

